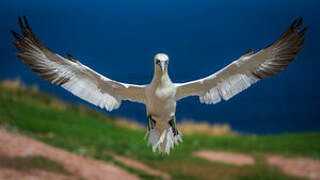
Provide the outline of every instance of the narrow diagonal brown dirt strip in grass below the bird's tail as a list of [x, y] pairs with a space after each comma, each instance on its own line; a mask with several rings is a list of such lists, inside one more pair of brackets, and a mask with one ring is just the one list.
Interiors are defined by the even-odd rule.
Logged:
[[142, 164], [141, 162], [138, 162], [138, 161], [135, 161], [135, 160], [132, 160], [132, 159], [128, 159], [126, 157], [123, 157], [123, 156], [118, 156], [118, 155], [115, 155], [113, 156], [114, 159], [126, 166], [129, 166], [131, 168], [134, 168], [134, 169], [137, 169], [137, 170], [140, 170], [140, 171], [143, 171], [147, 174], [150, 174], [150, 175], [153, 175], [153, 176], [160, 176], [162, 177], [162, 179], [164, 180], [170, 180], [171, 179], [171, 176], [167, 173], [164, 173], [164, 172], [161, 172], [161, 171], [158, 171], [158, 170], [154, 170], [152, 169], [151, 167], [145, 165], [145, 164]]

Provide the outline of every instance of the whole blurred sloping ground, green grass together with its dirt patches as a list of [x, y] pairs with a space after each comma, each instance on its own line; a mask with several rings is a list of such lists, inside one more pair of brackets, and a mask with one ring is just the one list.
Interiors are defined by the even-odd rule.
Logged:
[[319, 132], [197, 129], [167, 156], [147, 147], [139, 125], [14, 86], [0, 85], [0, 179], [319, 179]]

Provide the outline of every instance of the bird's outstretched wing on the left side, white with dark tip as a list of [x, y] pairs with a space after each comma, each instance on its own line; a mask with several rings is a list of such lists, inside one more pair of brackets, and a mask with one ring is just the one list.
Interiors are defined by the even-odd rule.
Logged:
[[108, 111], [120, 106], [121, 100], [145, 102], [145, 86], [125, 84], [108, 79], [81, 64], [71, 55], [63, 58], [47, 49], [33, 34], [24, 17], [19, 17], [23, 36], [11, 31], [16, 54], [32, 71], [53, 84], [61, 85], [72, 94]]

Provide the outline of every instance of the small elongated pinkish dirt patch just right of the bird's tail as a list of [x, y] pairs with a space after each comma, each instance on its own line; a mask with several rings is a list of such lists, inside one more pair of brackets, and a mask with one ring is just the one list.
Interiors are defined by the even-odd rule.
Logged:
[[195, 152], [193, 155], [212, 162], [221, 162], [237, 166], [254, 164], [254, 159], [251, 156], [231, 152], [201, 150]]

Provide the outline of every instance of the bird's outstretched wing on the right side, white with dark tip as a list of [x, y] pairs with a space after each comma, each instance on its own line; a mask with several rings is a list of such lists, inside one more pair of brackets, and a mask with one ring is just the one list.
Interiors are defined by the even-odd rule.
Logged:
[[300, 31], [302, 18], [295, 20], [273, 44], [257, 53], [249, 50], [238, 60], [206, 78], [176, 84], [176, 99], [199, 96], [206, 104], [215, 104], [221, 98], [228, 100], [260, 79], [282, 71], [295, 59], [305, 42], [306, 27]]

